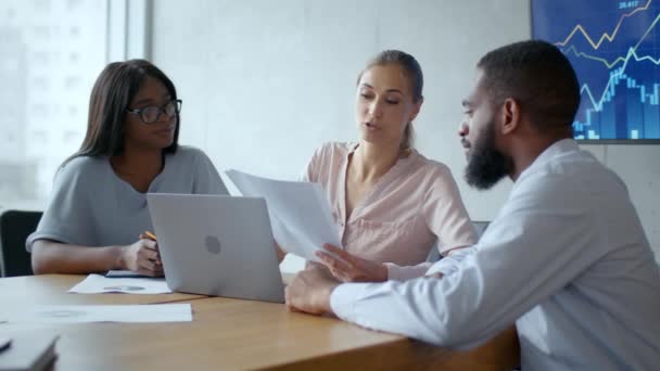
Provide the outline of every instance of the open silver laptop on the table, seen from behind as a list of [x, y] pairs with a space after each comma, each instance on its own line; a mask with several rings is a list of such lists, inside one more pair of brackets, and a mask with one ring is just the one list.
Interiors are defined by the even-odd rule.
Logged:
[[284, 303], [264, 199], [149, 193], [147, 201], [169, 289]]

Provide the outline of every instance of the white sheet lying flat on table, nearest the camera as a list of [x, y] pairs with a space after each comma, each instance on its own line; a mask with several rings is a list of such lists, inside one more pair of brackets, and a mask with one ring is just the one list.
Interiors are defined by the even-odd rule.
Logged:
[[8, 322], [87, 323], [87, 322], [191, 322], [190, 304], [150, 305], [39, 305], [22, 308]]

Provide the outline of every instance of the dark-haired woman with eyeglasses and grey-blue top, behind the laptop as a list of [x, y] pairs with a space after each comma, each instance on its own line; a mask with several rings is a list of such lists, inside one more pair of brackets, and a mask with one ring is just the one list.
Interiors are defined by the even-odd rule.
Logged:
[[27, 239], [35, 273], [128, 269], [163, 276], [147, 193], [226, 194], [208, 157], [178, 144], [181, 100], [153, 64], [109, 64], [91, 91], [80, 150], [55, 175]]

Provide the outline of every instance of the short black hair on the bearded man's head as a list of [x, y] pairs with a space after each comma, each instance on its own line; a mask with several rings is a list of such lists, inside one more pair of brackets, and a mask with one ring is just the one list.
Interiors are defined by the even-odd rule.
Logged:
[[517, 100], [538, 130], [571, 127], [580, 106], [580, 85], [571, 62], [554, 44], [530, 40], [485, 54], [477, 65], [493, 103]]

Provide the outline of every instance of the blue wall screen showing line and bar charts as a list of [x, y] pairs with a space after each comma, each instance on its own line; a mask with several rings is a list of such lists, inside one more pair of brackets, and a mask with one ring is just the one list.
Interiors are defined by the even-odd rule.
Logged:
[[660, 0], [533, 0], [532, 34], [573, 64], [575, 139], [660, 140]]

